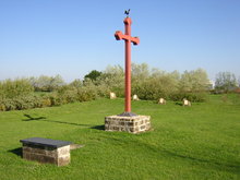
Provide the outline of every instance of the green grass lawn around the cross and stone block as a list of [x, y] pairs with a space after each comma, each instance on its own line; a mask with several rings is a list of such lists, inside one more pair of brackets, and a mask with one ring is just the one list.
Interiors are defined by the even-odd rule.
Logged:
[[[123, 99], [0, 112], [0, 179], [240, 179], [239, 95], [192, 107], [141, 100], [132, 109], [149, 115], [154, 130], [105, 132], [104, 118], [121, 113]], [[69, 166], [41, 165], [21, 158], [20, 140], [34, 136], [85, 146], [71, 151]]]

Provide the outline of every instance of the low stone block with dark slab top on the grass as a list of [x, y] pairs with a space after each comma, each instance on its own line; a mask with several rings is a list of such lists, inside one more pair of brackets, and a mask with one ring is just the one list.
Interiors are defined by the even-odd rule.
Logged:
[[70, 163], [70, 145], [67, 141], [31, 137], [20, 140], [23, 143], [23, 158], [43, 164], [65, 166]]

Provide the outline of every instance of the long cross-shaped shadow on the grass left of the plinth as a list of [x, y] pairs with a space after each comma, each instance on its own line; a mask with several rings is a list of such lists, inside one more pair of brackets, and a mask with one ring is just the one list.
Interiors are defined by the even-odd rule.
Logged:
[[81, 124], [81, 123], [74, 123], [74, 122], [64, 122], [64, 121], [56, 121], [56, 120], [47, 120], [46, 117], [37, 117], [34, 118], [31, 115], [24, 115], [24, 117], [26, 117], [27, 119], [23, 119], [22, 121], [45, 121], [45, 122], [52, 122], [52, 123], [62, 123], [62, 124], [69, 124], [69, 125], [79, 125], [79, 127], [87, 127], [91, 129], [96, 129], [96, 130], [104, 130], [105, 127], [104, 125], [94, 125], [93, 124]]

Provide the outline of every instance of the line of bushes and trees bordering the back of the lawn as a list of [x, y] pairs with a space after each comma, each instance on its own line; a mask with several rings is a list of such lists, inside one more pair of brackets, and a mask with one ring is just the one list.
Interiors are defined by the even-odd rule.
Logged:
[[[215, 84], [213, 89], [203, 69], [179, 73], [149, 69], [146, 63], [132, 64], [132, 94], [141, 99], [204, 101], [209, 92], [229, 93], [239, 86], [230, 72], [218, 73]], [[0, 111], [93, 100], [108, 97], [110, 92], [124, 97], [124, 70], [120, 65], [109, 65], [103, 72], [93, 70], [83, 80], [71, 83], [65, 83], [60, 75], [5, 80], [0, 82]]]

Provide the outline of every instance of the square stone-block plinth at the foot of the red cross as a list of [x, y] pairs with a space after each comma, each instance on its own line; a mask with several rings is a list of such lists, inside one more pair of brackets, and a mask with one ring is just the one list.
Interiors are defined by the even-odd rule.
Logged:
[[151, 130], [149, 116], [105, 117], [105, 131], [127, 131], [130, 133], [142, 133]]

